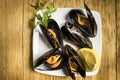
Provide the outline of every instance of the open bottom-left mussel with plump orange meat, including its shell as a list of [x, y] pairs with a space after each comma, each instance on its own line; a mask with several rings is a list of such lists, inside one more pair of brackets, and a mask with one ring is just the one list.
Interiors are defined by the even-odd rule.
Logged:
[[49, 70], [61, 69], [67, 63], [67, 55], [60, 51], [58, 48], [54, 48], [42, 56], [40, 56], [35, 62], [35, 68], [41, 64], [45, 64], [50, 68]]

